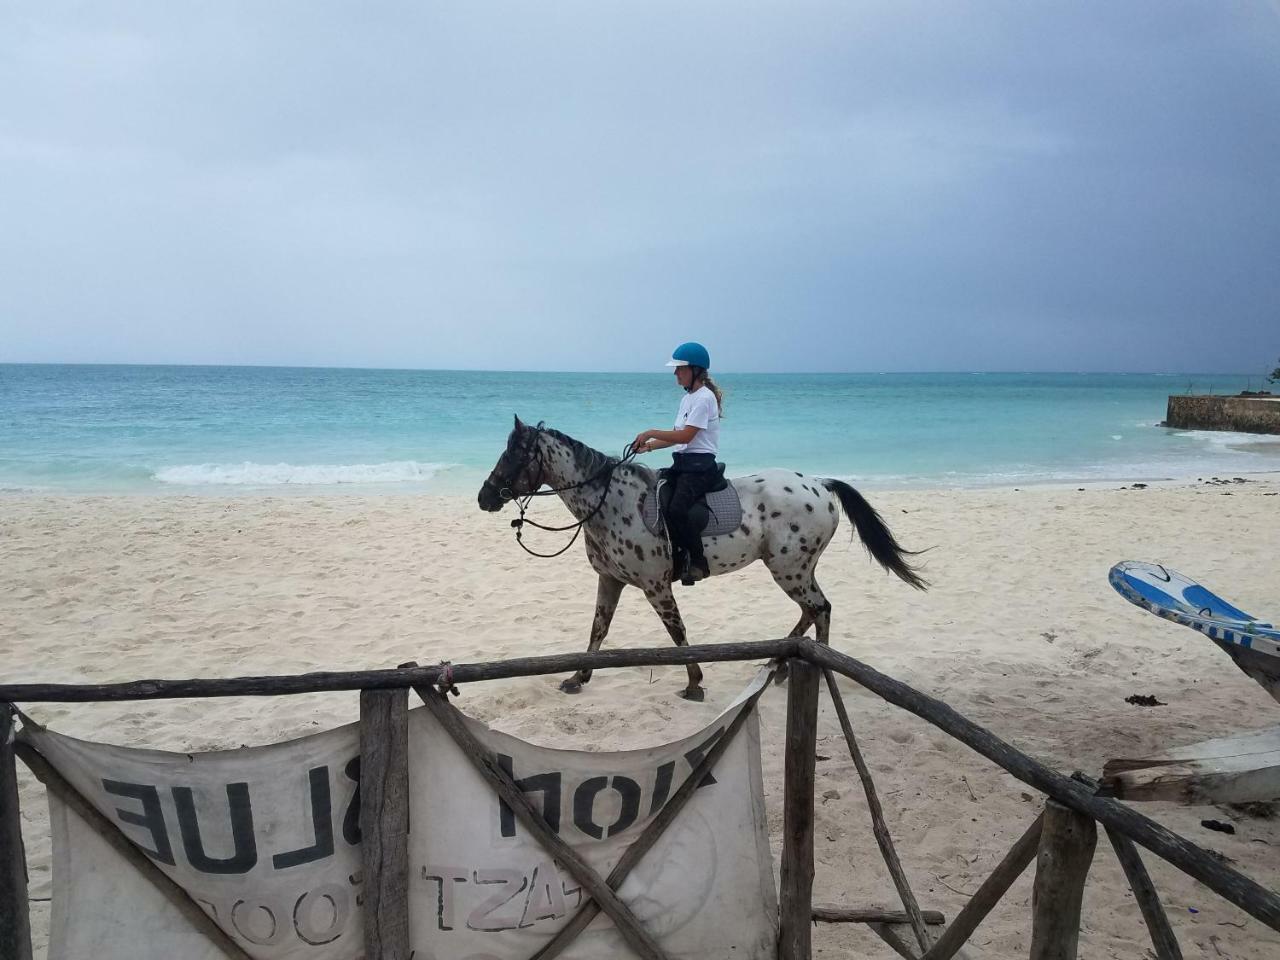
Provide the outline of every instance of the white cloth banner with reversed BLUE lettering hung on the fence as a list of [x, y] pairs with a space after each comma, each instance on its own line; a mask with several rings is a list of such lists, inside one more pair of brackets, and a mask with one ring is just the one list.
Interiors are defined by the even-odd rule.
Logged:
[[[604, 876], [767, 680], [762, 671], [698, 733], [645, 750], [554, 750], [467, 722]], [[207, 754], [50, 731], [24, 736], [251, 956], [364, 955], [356, 724]], [[525, 960], [582, 905], [577, 882], [421, 708], [410, 712], [408, 758], [415, 955]], [[74, 813], [54, 797], [50, 810], [50, 960], [220, 960], [221, 951]], [[620, 896], [673, 957], [773, 956], [777, 897], [754, 710]], [[563, 955], [634, 954], [602, 914]]]

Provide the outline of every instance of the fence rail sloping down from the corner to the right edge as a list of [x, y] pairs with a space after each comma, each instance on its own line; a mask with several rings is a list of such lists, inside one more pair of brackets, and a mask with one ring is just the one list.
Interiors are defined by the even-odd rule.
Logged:
[[820, 667], [828, 667], [856, 680], [891, 704], [927, 719], [1024, 783], [1048, 794], [1076, 813], [1083, 813], [1106, 827], [1117, 829], [1157, 856], [1169, 860], [1183, 873], [1198, 879], [1224, 900], [1235, 904], [1271, 929], [1280, 931], [1280, 895], [1219, 863], [1207, 850], [1123, 804], [1097, 796], [1088, 786], [1073, 781], [1016, 750], [989, 730], [961, 717], [941, 700], [913, 690], [906, 684], [887, 677], [852, 657], [808, 639], [799, 641], [799, 654]]

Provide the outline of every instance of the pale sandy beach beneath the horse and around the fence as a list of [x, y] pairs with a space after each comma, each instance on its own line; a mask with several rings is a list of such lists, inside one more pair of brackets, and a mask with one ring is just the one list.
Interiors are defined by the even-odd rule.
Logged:
[[[933, 589], [910, 590], [847, 532], [819, 564], [832, 643], [986, 724], [1051, 765], [1098, 773], [1111, 756], [1274, 726], [1280, 705], [1197, 634], [1138, 611], [1107, 585], [1120, 559], [1164, 562], [1244, 609], [1280, 607], [1280, 481], [1084, 490], [877, 493], [909, 547], [932, 548]], [[554, 520], [557, 506], [541, 504]], [[539, 515], [540, 517], [544, 515]], [[490, 660], [586, 645], [594, 573], [579, 547], [554, 561], [512, 543], [508, 517], [458, 498], [0, 499], [3, 678], [102, 682]], [[847, 530], [844, 526], [842, 530]], [[530, 531], [530, 539], [538, 531]], [[539, 544], [558, 547], [559, 535]], [[783, 635], [795, 608], [759, 564], [685, 589], [691, 639]], [[607, 646], [666, 632], [628, 590]], [[552, 677], [477, 685], [460, 705], [526, 739], [598, 749], [673, 739], [713, 717], [753, 664], [708, 664], [708, 698], [675, 694], [682, 668], [596, 673], [580, 696]], [[1034, 818], [1041, 796], [854, 684], [845, 698], [922, 905], [954, 916]], [[1134, 707], [1130, 694], [1167, 705]], [[774, 856], [785, 695], [763, 701]], [[74, 736], [163, 749], [261, 744], [348, 722], [355, 694], [136, 704], [32, 704]], [[892, 904], [865, 803], [822, 705], [815, 899]], [[41, 787], [22, 777], [37, 955], [50, 895]], [[1142, 812], [1280, 887], [1280, 819], [1226, 808]], [[1230, 820], [1235, 835], [1202, 819]], [[1280, 956], [1266, 929], [1155, 856], [1148, 865], [1188, 957]], [[978, 929], [973, 957], [1025, 955], [1030, 878]], [[890, 956], [861, 929], [819, 927], [820, 956]], [[1149, 941], [1103, 840], [1089, 876], [1080, 956], [1146, 956]]]

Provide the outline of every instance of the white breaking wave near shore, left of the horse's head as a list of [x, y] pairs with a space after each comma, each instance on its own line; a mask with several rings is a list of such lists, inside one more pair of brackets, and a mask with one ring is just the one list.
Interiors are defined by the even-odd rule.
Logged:
[[430, 480], [456, 463], [182, 463], [156, 470], [152, 479], [183, 486], [328, 486], [333, 484], [407, 484]]

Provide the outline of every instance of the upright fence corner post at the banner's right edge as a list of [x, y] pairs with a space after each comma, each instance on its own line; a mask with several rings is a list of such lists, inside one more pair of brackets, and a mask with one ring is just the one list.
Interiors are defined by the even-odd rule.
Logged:
[[787, 753], [783, 763], [778, 960], [810, 960], [813, 924], [813, 772], [818, 745], [818, 677], [787, 662]]

